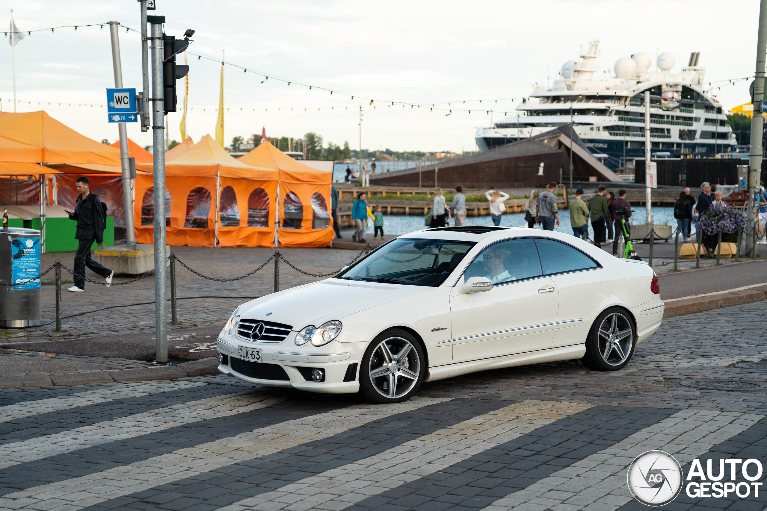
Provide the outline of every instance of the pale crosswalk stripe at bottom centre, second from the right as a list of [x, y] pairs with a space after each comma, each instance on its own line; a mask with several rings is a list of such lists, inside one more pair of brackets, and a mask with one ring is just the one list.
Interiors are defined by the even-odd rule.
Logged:
[[[278, 490], [225, 506], [219, 511], [271, 509], [268, 503], [308, 509], [342, 509], [397, 486], [444, 470], [484, 450], [512, 441], [538, 427], [593, 405], [556, 401], [522, 401], [453, 424], [380, 454], [318, 473]], [[300, 496], [299, 500], [296, 496]], [[274, 507], [274, 509], [277, 509]]]

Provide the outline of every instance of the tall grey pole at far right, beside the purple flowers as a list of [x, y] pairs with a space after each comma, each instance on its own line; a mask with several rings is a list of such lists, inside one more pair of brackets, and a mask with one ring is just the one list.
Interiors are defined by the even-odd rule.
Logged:
[[[753, 225], [756, 218], [755, 207], [759, 206], [756, 188], [762, 174], [762, 99], [765, 90], [765, 51], [767, 51], [767, 0], [759, 2], [759, 34], [756, 38], [756, 78], [754, 80], [754, 105], [751, 117], [751, 150], [749, 151], [749, 202], [746, 204], [746, 224]], [[716, 106], [714, 106], [716, 109]], [[716, 110], [714, 110], [716, 113]], [[756, 255], [754, 236], [746, 238], [746, 252]]]

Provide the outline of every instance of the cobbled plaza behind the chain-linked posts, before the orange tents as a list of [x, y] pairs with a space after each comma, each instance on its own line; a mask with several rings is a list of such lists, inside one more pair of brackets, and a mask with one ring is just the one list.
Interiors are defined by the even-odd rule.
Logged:
[[[172, 247], [173, 252], [194, 270], [209, 277], [231, 279], [255, 270], [272, 254], [272, 248], [249, 247]], [[295, 266], [312, 274], [327, 274], [339, 270], [357, 255], [354, 251], [331, 248], [281, 248], [280, 252]], [[67, 267], [73, 266], [74, 253], [48, 253], [42, 256], [42, 267], [48, 268], [56, 259]], [[103, 282], [91, 270], [86, 277]], [[104, 287], [86, 283], [85, 293], [67, 293], [71, 287], [71, 274], [61, 270], [62, 316], [100, 309], [107, 306], [145, 303], [154, 300], [154, 276], [120, 287]], [[129, 280], [115, 277], [114, 283]], [[283, 261], [280, 264], [281, 289], [313, 282], [317, 277], [299, 274]], [[268, 264], [252, 277], [234, 282], [205, 280], [176, 264], [176, 282], [179, 298], [188, 296], [263, 296], [274, 291], [274, 265]], [[170, 297], [170, 292], [168, 293]], [[179, 326], [189, 328], [223, 323], [242, 298], [179, 300]], [[170, 321], [170, 304], [168, 319]], [[55, 278], [51, 270], [42, 279], [41, 318], [43, 322], [55, 319]], [[0, 339], [24, 341], [32, 339], [55, 339], [57, 337], [91, 337], [116, 333], [149, 331], [154, 329], [154, 305], [130, 306], [104, 310], [99, 313], [64, 319], [62, 332], [54, 332], [54, 324], [33, 329], [0, 329]]]

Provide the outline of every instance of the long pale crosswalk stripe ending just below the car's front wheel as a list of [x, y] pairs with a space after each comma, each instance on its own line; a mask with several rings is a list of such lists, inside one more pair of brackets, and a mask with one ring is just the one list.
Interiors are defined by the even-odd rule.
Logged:
[[66, 506], [68, 511], [74, 511], [219, 467], [320, 441], [371, 421], [444, 401], [451, 401], [451, 398], [411, 398], [393, 405], [354, 405], [285, 421], [130, 465], [8, 493], [0, 497], [0, 508], [37, 509], [39, 503], [45, 501], [45, 509]]

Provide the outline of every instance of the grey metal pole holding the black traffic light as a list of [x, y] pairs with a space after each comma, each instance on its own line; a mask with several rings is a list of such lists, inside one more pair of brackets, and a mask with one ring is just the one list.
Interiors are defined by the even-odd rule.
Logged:
[[[143, 4], [143, 2], [141, 2]], [[168, 304], [165, 268], [165, 101], [163, 100], [163, 32], [159, 23], [152, 34], [152, 142], [154, 144], [154, 317], [155, 359], [168, 362]], [[218, 219], [216, 219], [218, 220]]]

